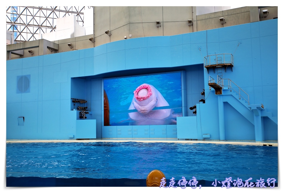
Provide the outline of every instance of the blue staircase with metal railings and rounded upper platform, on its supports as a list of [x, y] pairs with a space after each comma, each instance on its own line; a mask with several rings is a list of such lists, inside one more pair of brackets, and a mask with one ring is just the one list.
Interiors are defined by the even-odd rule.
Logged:
[[[230, 56], [227, 57], [226, 56]], [[214, 88], [215, 94], [218, 95], [218, 113], [219, 113], [219, 132], [220, 140], [226, 140], [225, 119], [224, 119], [224, 102], [229, 103], [235, 110], [244, 116], [255, 127], [255, 141], [263, 141], [264, 136], [264, 119], [267, 117], [278, 125], [278, 117], [272, 117], [271, 112], [267, 112], [263, 104], [251, 105], [249, 95], [236, 85], [230, 79], [223, 79], [223, 67], [233, 67], [232, 54], [216, 54], [206, 56], [204, 67], [209, 72], [210, 68], [217, 68], [217, 81], [209, 76], [208, 85]]]

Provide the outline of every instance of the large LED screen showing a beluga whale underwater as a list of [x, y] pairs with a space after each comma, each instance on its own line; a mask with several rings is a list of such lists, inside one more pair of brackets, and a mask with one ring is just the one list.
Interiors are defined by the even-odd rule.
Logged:
[[181, 72], [104, 80], [104, 126], [172, 125], [179, 116]]

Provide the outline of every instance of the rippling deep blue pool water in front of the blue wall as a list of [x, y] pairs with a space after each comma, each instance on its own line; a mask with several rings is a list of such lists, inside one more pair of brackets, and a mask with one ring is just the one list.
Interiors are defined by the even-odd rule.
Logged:
[[[278, 183], [278, 147], [160, 142], [6, 143], [6, 179], [10, 183], [13, 178], [11, 186], [25, 177], [41, 181], [44, 178], [141, 181], [155, 169], [161, 170], [167, 181], [194, 176], [208, 185], [229, 177], [243, 181], [252, 178], [253, 182], [261, 177], [265, 181], [275, 178]], [[146, 184], [141, 181], [138, 186]]]

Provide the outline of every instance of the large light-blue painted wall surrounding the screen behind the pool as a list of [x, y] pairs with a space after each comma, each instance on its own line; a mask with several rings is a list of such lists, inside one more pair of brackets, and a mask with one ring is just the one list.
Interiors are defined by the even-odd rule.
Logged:
[[[86, 106], [92, 113], [87, 119], [96, 121], [84, 126], [94, 128], [92, 124], [96, 123], [96, 138], [176, 138], [177, 125], [110, 128], [102, 124], [103, 77], [120, 77], [123, 73], [134, 76], [139, 74], [137, 69], [149, 68], [147, 74], [185, 71], [183, 106], [187, 116], [196, 116], [197, 138], [210, 134], [209, 139], [218, 140], [218, 97], [207, 85], [208, 76], [216, 78], [217, 71], [210, 69], [208, 73], [203, 67], [204, 57], [215, 53], [233, 54], [233, 70], [227, 69], [223, 78], [231, 79], [248, 93], [250, 104], [263, 104], [277, 117], [277, 22], [274, 19], [175, 36], [133, 38], [84, 50], [9, 60], [6, 137], [76, 139], [77, 134], [84, 135], [76, 128], [77, 112], [71, 100], [78, 98], [88, 101]], [[17, 76], [22, 75], [30, 75], [28, 93], [16, 92]], [[203, 88], [205, 97], [200, 94]], [[206, 103], [199, 104], [200, 99], [206, 99]], [[196, 104], [194, 115], [189, 107]], [[224, 102], [224, 113], [226, 140], [255, 140], [253, 124], [232, 104]], [[18, 125], [21, 116], [25, 117], [24, 126]], [[278, 125], [267, 117], [262, 120], [265, 140], [277, 140]], [[186, 122], [180, 124], [180, 128], [188, 128]]]

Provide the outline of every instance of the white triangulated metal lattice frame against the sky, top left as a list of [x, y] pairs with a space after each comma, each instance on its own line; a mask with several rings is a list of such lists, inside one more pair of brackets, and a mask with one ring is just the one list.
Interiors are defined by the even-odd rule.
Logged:
[[6, 7], [6, 30], [12, 31], [15, 43], [38, 39], [35, 34], [56, 31], [57, 18], [76, 14], [77, 24], [84, 26], [84, 10], [92, 7], [78, 6], [9, 6]]

